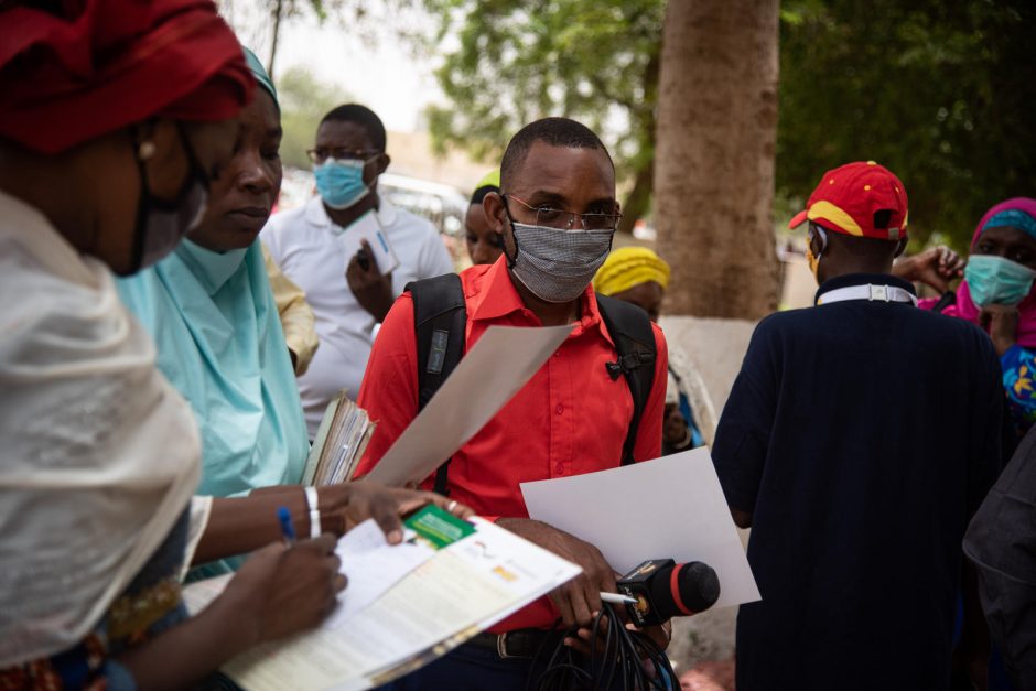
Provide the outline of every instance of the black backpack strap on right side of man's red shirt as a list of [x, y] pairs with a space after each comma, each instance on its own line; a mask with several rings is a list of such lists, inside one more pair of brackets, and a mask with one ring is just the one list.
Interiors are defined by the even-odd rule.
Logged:
[[619, 375], [625, 375], [633, 397], [633, 418], [623, 443], [623, 465], [629, 465], [633, 463], [633, 447], [637, 443], [640, 418], [655, 382], [655, 360], [658, 357], [655, 330], [647, 312], [637, 305], [597, 293], [597, 307], [618, 352], [616, 361], [605, 364], [608, 376], [615, 380]]

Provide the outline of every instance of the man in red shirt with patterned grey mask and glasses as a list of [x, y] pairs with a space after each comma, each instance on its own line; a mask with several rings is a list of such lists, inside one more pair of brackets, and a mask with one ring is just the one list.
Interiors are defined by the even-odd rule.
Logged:
[[[611, 251], [620, 218], [615, 169], [601, 140], [565, 118], [538, 120], [507, 147], [500, 193], [484, 202], [504, 238], [496, 263], [461, 274], [467, 307], [466, 347], [493, 325], [575, 328], [547, 364], [452, 457], [447, 490], [508, 530], [583, 568], [583, 574], [445, 658], [396, 682], [396, 689], [525, 689], [530, 658], [559, 617], [579, 625], [574, 647], [601, 608], [616, 574], [592, 544], [529, 519], [519, 483], [618, 467], [634, 402], [626, 379], [613, 378], [616, 347], [602, 322], [591, 279]], [[637, 429], [635, 461], [661, 451], [667, 349], [652, 326], [654, 382]], [[369, 472], [418, 412], [417, 337], [409, 293], [396, 302], [375, 342], [359, 406], [378, 422], [360, 466]], [[433, 486], [433, 478], [424, 483]], [[627, 510], [626, 507], [615, 507]], [[665, 643], [666, 634], [655, 631]], [[580, 640], [582, 639], [582, 640]]]

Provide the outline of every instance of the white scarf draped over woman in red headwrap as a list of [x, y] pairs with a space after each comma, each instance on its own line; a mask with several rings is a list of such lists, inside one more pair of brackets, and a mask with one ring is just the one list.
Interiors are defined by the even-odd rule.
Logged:
[[75, 646], [198, 483], [190, 408], [108, 269], [0, 192], [0, 668]]

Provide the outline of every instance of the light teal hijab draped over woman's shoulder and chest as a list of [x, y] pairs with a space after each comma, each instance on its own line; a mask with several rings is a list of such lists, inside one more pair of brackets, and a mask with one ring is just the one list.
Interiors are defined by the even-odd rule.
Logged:
[[259, 240], [218, 253], [184, 239], [118, 289], [154, 337], [159, 368], [194, 410], [198, 494], [301, 483], [309, 436]]

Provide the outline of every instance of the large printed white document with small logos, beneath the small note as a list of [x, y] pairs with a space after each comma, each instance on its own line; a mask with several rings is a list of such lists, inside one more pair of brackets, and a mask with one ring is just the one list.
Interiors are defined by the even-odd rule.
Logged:
[[580, 573], [575, 564], [503, 528], [473, 522], [476, 532], [435, 552], [347, 626], [321, 626], [263, 644], [223, 670], [251, 691], [366, 689], [403, 673], [399, 665], [408, 660], [432, 661], [481, 630], [483, 622]]

